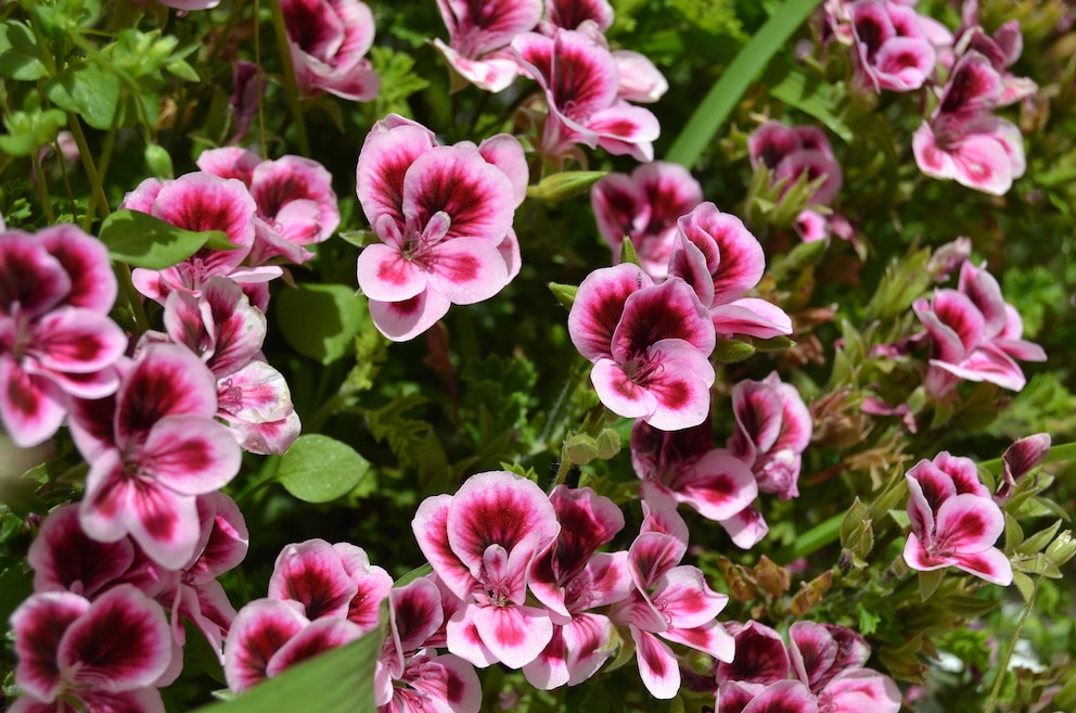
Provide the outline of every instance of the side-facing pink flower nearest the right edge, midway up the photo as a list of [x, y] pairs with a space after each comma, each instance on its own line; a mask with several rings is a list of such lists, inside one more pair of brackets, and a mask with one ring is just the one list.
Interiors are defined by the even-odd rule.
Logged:
[[1021, 339], [1023, 322], [997, 280], [970, 260], [961, 266], [956, 290], [935, 290], [930, 302], [917, 300], [912, 306], [930, 336], [926, 390], [935, 397], [961, 379], [1020, 391], [1027, 380], [1016, 359], [1046, 360], [1040, 346]]

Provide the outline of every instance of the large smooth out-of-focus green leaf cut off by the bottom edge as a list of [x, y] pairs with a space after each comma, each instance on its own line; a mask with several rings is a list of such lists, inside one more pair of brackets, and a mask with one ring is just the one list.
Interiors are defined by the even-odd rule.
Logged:
[[362, 638], [289, 669], [238, 698], [197, 709], [196, 713], [318, 713], [375, 711], [373, 675], [385, 644], [388, 604], [381, 606], [381, 623]]

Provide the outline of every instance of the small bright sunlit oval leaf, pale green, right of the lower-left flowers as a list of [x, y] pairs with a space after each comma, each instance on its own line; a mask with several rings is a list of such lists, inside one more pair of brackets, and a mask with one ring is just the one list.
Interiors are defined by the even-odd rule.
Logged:
[[345, 443], [320, 433], [302, 435], [280, 459], [277, 479], [306, 502], [329, 502], [354, 489], [370, 463]]

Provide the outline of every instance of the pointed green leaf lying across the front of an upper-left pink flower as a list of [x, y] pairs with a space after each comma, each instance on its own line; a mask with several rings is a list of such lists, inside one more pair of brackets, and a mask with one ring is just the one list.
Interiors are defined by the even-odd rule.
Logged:
[[203, 246], [235, 247], [220, 230], [192, 232], [138, 211], [116, 211], [101, 226], [101, 242], [114, 260], [163, 270], [187, 259]]

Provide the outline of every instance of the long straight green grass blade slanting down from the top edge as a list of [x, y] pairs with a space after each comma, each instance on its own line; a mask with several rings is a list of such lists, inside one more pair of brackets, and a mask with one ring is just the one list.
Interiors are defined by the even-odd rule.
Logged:
[[686, 168], [691, 168], [699, 161], [703, 149], [714, 139], [751, 82], [763, 73], [770, 58], [789, 41], [819, 1], [787, 0], [773, 11], [761, 29], [732, 60], [721, 78], [710, 87], [709, 93], [672, 142], [666, 161]]

